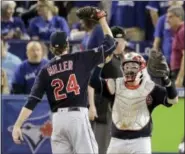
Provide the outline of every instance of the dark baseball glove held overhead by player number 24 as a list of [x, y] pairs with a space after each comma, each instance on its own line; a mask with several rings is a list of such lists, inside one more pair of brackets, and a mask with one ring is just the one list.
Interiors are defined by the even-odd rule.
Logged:
[[99, 19], [105, 17], [107, 14], [105, 11], [100, 10], [96, 7], [85, 6], [76, 11], [76, 15], [79, 19], [90, 19], [98, 21]]

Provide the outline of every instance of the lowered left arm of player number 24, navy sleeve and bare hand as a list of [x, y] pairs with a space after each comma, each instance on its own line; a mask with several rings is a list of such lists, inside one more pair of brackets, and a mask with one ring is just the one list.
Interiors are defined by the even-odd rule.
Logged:
[[22, 133], [21, 133], [22, 124], [31, 115], [36, 105], [42, 100], [42, 97], [45, 92], [44, 82], [45, 82], [44, 70], [42, 69], [39, 75], [36, 77], [35, 83], [32, 87], [28, 100], [25, 106], [22, 108], [17, 121], [15, 122], [13, 132], [12, 132], [12, 137], [16, 144], [20, 144], [21, 140], [23, 140]]

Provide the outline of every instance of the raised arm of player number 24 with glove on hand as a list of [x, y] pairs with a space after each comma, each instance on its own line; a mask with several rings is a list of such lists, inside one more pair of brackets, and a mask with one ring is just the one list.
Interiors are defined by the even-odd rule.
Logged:
[[102, 40], [102, 45], [80, 55], [83, 61], [86, 59], [88, 63], [87, 69], [92, 69], [92, 67], [106, 62], [106, 58], [111, 56], [115, 51], [117, 42], [113, 38], [112, 32], [106, 21], [106, 13], [103, 10], [87, 6], [77, 10], [77, 16], [79, 19], [89, 19], [95, 20], [97, 23], [99, 22], [105, 35], [104, 40]]

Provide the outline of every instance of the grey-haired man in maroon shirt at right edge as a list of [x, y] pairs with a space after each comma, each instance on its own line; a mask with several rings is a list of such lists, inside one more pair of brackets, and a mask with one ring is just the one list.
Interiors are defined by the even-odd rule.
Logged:
[[167, 11], [167, 22], [174, 32], [171, 54], [171, 77], [177, 87], [184, 85], [184, 9], [172, 6]]

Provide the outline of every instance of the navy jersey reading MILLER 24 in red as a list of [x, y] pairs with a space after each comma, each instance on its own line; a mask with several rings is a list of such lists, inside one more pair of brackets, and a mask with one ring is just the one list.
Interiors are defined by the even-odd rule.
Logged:
[[87, 107], [91, 71], [115, 48], [115, 40], [107, 35], [104, 43], [91, 51], [53, 58], [37, 76], [28, 103], [39, 102], [46, 93], [53, 112], [63, 107]]

